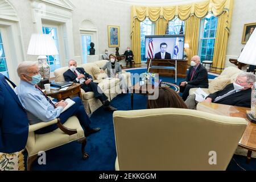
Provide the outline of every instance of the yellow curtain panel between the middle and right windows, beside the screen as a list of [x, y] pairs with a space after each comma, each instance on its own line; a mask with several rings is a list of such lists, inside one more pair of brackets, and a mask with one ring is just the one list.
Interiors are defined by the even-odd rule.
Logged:
[[189, 44], [189, 48], [185, 49], [187, 52], [188, 64], [190, 64], [191, 57], [197, 55], [199, 47], [199, 30], [200, 19], [191, 16], [185, 21], [185, 43]]

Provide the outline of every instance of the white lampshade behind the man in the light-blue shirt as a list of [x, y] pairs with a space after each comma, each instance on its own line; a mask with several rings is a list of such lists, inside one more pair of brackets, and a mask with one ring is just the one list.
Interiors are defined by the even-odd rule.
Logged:
[[59, 55], [51, 35], [32, 34], [27, 49], [28, 55]]

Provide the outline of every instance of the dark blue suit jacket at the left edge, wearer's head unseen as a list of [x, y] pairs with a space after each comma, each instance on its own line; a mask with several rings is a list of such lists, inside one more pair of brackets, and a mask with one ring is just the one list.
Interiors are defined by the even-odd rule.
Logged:
[[18, 96], [0, 73], [0, 152], [14, 153], [25, 148], [28, 119]]

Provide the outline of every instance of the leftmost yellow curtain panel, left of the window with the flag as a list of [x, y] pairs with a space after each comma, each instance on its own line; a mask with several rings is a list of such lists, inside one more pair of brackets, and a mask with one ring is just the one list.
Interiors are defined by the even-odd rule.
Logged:
[[131, 48], [134, 53], [135, 67], [141, 67], [141, 22], [134, 20], [133, 32], [131, 32]]

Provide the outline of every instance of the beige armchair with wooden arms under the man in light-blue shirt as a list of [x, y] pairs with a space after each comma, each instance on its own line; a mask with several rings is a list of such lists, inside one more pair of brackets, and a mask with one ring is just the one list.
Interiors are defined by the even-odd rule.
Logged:
[[[35, 134], [34, 131], [42, 129], [49, 125], [55, 125], [58, 129], [46, 133]], [[47, 151], [63, 144], [79, 140], [82, 143], [82, 158], [87, 159], [88, 154], [85, 152], [86, 138], [84, 137], [84, 130], [82, 129], [77, 117], [73, 116], [68, 119], [63, 125], [59, 119], [54, 119], [51, 122], [40, 122], [35, 125], [30, 125], [28, 130], [28, 139], [26, 149], [28, 152], [27, 157], [27, 170], [31, 169], [31, 164], [38, 157], [40, 151]]]

